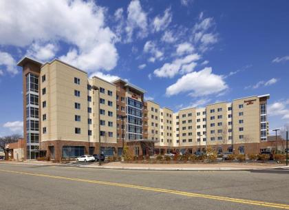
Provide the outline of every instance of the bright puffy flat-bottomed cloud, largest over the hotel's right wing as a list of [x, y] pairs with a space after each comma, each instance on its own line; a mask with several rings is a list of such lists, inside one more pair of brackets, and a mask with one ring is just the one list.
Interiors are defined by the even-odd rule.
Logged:
[[207, 96], [218, 94], [228, 88], [222, 76], [213, 74], [211, 67], [205, 67], [200, 72], [191, 72], [178, 79], [176, 83], [167, 87], [167, 96], [182, 92], [190, 92], [190, 96]]

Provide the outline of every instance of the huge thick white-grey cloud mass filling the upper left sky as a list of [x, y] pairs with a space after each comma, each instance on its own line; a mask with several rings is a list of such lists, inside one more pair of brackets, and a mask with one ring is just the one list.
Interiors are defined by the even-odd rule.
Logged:
[[[0, 45], [63, 41], [73, 46], [61, 56], [64, 61], [88, 72], [111, 70], [118, 53], [116, 35], [105, 25], [105, 11], [94, 1], [0, 1], [1, 28], [6, 29], [0, 30]], [[36, 56], [51, 57], [51, 52], [52, 48]]]

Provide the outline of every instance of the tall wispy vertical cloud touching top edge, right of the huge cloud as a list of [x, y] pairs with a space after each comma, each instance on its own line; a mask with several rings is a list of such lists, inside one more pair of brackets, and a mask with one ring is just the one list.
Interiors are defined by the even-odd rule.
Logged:
[[132, 41], [133, 31], [140, 29], [138, 37], [147, 36], [147, 13], [142, 10], [140, 1], [133, 0], [129, 3], [127, 8], [127, 26], [125, 28], [127, 32], [127, 41]]

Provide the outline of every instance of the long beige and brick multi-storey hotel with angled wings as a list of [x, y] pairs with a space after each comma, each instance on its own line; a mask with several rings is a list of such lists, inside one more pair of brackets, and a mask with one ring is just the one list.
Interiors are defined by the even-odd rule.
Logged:
[[27, 159], [97, 154], [99, 136], [100, 149], [107, 156], [120, 156], [122, 142], [133, 155], [193, 153], [208, 146], [257, 154], [269, 147], [269, 95], [173, 113], [144, 101], [145, 91], [136, 85], [89, 78], [87, 72], [58, 59], [40, 63], [25, 57], [18, 65], [23, 68]]

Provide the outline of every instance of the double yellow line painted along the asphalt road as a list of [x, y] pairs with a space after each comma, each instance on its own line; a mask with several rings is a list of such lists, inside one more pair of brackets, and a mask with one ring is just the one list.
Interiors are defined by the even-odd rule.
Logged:
[[177, 191], [177, 190], [171, 190], [171, 189], [144, 187], [144, 186], [139, 186], [139, 185], [127, 185], [127, 184], [121, 184], [121, 183], [117, 183], [117, 182], [104, 182], [104, 181], [100, 181], [100, 180], [88, 180], [88, 179], [71, 178], [71, 177], [65, 177], [65, 176], [53, 176], [53, 175], [49, 175], [49, 174], [35, 174], [35, 173], [29, 173], [29, 172], [23, 172], [23, 171], [10, 171], [10, 170], [1, 170], [1, 169], [0, 169], [0, 171], [12, 173], [12, 174], [41, 176], [41, 177], [55, 178], [55, 179], [61, 179], [61, 180], [89, 182], [89, 183], [94, 183], [94, 184], [99, 184], [99, 185], [111, 185], [111, 186], [117, 186], [117, 187], [142, 189], [145, 191], [171, 193], [171, 194], [175, 194], [175, 195], [189, 196], [189, 197], [194, 197], [194, 198], [208, 198], [208, 199], [213, 199], [213, 200], [222, 200], [222, 201], [226, 201], [226, 202], [236, 202], [236, 203], [241, 203], [241, 204], [251, 204], [251, 205], [255, 205], [255, 206], [273, 207], [273, 208], [277, 208], [277, 209], [289, 209], [289, 204], [279, 204], [279, 203], [273, 203], [273, 202], [264, 202], [264, 201], [247, 200], [247, 199], [239, 199], [239, 198], [228, 198], [228, 197], [224, 197], [224, 196], [210, 196], [210, 195], [201, 194], [201, 193], [189, 193], [189, 192], [185, 192], [185, 191]]

